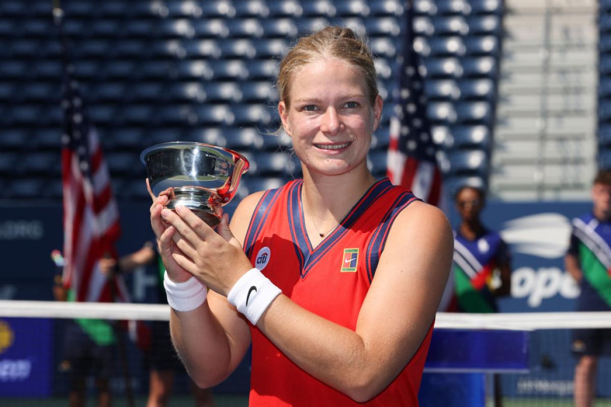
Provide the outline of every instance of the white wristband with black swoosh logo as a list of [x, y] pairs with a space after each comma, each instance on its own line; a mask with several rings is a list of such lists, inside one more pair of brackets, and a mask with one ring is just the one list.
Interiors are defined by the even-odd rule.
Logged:
[[252, 323], [257, 322], [282, 290], [274, 286], [269, 278], [257, 268], [251, 268], [236, 281], [235, 286], [227, 294], [227, 300], [233, 304]]

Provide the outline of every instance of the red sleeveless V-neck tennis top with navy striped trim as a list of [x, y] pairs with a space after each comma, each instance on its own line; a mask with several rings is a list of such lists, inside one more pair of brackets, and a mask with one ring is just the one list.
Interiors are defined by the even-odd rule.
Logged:
[[[312, 248], [305, 232], [301, 187], [299, 179], [263, 194], [244, 240], [246, 254], [296, 304], [355, 330], [390, 226], [417, 198], [388, 179], [378, 181], [340, 225]], [[249, 406], [417, 406], [432, 328], [397, 378], [362, 404], [306, 373], [251, 325]]]

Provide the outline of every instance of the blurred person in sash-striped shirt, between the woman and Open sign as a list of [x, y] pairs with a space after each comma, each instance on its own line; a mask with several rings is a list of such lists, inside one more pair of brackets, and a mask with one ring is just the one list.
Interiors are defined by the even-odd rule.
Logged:
[[[511, 294], [511, 257], [500, 234], [481, 223], [485, 206], [481, 189], [464, 186], [455, 195], [461, 223], [454, 231], [454, 309], [450, 311], [498, 312], [496, 300]], [[502, 405], [500, 377], [494, 376], [494, 404]]]

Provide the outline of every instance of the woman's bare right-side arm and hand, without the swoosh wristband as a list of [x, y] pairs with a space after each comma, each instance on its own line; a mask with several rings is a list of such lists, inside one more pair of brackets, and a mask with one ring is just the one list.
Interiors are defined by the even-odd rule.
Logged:
[[[180, 232], [175, 239], [183, 254], [175, 260], [227, 295], [252, 266], [232, 258], [230, 248], [190, 211], [177, 212], [167, 213]], [[447, 218], [432, 206], [413, 203], [391, 228], [356, 331], [306, 311], [284, 295], [271, 303], [257, 326], [306, 372], [364, 402], [388, 386], [422, 343], [444, 291], [452, 250]], [[221, 262], [214, 260], [219, 255]]]

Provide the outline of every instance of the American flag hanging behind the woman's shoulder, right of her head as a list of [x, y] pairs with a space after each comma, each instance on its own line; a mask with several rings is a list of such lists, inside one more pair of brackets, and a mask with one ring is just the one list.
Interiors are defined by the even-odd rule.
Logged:
[[414, 51], [414, 12], [411, 1], [405, 3], [403, 53], [397, 58], [397, 104], [390, 119], [387, 174], [393, 184], [403, 185], [415, 196], [439, 206], [442, 178], [436, 160], [437, 146], [426, 118], [422, 68]]

